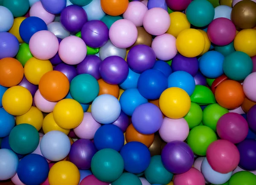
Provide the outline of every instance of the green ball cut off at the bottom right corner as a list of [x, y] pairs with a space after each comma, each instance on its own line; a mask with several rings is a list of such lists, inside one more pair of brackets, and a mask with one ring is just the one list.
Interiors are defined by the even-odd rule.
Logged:
[[239, 171], [233, 174], [228, 185], [256, 185], [256, 175], [249, 171]]

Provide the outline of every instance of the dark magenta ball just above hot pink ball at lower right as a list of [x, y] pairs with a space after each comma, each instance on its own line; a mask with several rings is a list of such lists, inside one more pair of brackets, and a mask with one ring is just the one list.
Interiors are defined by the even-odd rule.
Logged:
[[218, 120], [216, 129], [221, 139], [226, 139], [236, 144], [246, 138], [249, 126], [240, 114], [227, 113]]

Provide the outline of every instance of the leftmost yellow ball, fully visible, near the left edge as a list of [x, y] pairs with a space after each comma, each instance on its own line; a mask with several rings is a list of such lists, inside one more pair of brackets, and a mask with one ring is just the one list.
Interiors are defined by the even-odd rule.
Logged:
[[32, 95], [25, 87], [13, 86], [3, 94], [2, 104], [7, 113], [20, 116], [32, 106]]

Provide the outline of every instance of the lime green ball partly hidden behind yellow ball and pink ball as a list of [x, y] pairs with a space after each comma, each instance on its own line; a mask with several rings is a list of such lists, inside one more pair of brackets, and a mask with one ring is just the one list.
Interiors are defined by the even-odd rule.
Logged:
[[201, 123], [203, 119], [203, 110], [198, 104], [191, 102], [189, 113], [187, 113], [184, 119], [188, 122], [189, 129], [192, 129]]

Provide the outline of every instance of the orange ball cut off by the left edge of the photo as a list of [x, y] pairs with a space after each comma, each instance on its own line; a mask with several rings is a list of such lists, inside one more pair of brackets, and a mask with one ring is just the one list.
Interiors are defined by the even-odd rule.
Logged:
[[15, 58], [0, 60], [0, 85], [12, 87], [20, 83], [24, 75], [22, 64]]

